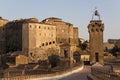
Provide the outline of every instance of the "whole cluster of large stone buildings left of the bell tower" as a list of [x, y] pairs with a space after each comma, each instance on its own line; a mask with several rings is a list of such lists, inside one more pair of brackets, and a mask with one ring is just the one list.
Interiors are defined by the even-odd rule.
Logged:
[[26, 64], [48, 60], [52, 55], [72, 64], [78, 44], [78, 28], [62, 19], [50, 17], [39, 22], [37, 18], [0, 18], [0, 53], [20, 51], [28, 60]]

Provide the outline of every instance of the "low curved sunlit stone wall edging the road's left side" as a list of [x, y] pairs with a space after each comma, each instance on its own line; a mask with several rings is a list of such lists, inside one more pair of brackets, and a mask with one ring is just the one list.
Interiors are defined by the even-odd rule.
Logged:
[[56, 72], [52, 74], [43, 74], [43, 75], [26, 75], [26, 76], [16, 76], [16, 77], [6, 77], [6, 78], [0, 78], [0, 80], [44, 80], [49, 78], [57, 78], [57, 77], [64, 77], [67, 75], [70, 75], [71, 73], [74, 73], [76, 71], [80, 71], [83, 69], [83, 65], [79, 65], [77, 67], [70, 68], [66, 71]]

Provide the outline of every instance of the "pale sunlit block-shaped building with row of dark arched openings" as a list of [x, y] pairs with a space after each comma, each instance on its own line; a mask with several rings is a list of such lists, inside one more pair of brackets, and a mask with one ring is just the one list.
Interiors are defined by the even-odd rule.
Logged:
[[45, 50], [55, 47], [55, 45], [56, 26], [40, 22], [23, 24], [22, 51], [29, 56], [30, 62], [47, 59]]

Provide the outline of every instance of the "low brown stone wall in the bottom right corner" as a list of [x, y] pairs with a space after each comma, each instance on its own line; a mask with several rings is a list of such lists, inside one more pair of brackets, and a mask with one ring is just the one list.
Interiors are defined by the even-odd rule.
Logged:
[[89, 80], [120, 80], [120, 76], [112, 71], [102, 68], [91, 68], [91, 74], [88, 75]]

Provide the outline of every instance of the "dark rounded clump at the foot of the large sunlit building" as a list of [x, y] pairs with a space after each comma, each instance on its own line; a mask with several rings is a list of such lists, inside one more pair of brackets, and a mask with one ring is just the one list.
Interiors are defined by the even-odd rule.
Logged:
[[60, 64], [60, 57], [58, 55], [51, 55], [48, 57], [51, 67], [57, 67]]

